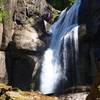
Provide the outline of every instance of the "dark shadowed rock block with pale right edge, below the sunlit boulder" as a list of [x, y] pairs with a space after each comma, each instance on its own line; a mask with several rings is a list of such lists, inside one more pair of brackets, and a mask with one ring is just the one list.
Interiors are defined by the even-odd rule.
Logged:
[[[23, 53], [23, 52], [22, 52]], [[35, 77], [39, 66], [38, 58], [34, 55], [21, 54], [17, 51], [12, 56], [12, 67], [10, 67], [11, 84], [22, 90], [34, 89]], [[34, 79], [34, 80], [33, 80]]]

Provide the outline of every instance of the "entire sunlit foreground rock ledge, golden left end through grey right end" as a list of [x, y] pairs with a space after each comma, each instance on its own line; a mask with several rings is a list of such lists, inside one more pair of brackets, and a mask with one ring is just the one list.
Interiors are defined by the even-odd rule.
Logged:
[[5, 84], [0, 84], [0, 100], [86, 100], [88, 92], [69, 93], [60, 96], [47, 96], [38, 91], [22, 91]]

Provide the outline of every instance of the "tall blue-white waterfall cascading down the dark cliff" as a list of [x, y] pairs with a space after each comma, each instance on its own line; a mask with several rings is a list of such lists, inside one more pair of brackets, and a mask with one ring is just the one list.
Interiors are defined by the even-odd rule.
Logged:
[[[45, 51], [40, 73], [40, 91], [55, 93], [61, 81], [69, 82], [68, 68], [74, 64], [75, 80], [79, 80], [78, 69], [78, 12], [81, 0], [62, 11], [58, 20], [51, 26], [52, 40]], [[62, 45], [63, 44], [63, 45]], [[74, 53], [73, 53], [74, 52]], [[73, 72], [74, 72], [73, 71]], [[76, 84], [76, 82], [74, 82]]]

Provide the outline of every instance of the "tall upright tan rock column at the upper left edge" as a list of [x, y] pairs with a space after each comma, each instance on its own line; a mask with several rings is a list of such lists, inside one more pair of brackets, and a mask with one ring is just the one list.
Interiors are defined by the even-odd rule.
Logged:
[[5, 1], [4, 10], [7, 13], [7, 16], [3, 18], [3, 34], [2, 34], [2, 44], [0, 47], [0, 50], [6, 50], [6, 48], [9, 45], [9, 42], [12, 41], [13, 36], [13, 12], [14, 12], [14, 6], [16, 4], [16, 0], [7, 0]]

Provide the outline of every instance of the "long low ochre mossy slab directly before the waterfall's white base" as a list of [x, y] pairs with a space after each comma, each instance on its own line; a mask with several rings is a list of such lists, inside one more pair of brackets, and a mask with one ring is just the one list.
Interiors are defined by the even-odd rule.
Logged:
[[57, 97], [45, 96], [39, 92], [8, 91], [0, 100], [59, 100]]

